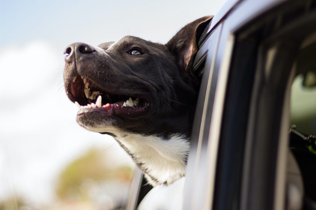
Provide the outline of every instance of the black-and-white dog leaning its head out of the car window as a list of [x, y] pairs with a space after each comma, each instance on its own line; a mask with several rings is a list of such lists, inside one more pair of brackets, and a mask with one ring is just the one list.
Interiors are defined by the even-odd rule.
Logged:
[[167, 44], [126, 36], [64, 51], [64, 87], [78, 105], [77, 123], [113, 136], [153, 186], [185, 176], [200, 83], [192, 65], [212, 18], [187, 24]]

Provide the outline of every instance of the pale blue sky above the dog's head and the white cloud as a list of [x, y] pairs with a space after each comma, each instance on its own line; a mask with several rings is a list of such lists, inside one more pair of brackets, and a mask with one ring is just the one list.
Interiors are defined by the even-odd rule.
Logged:
[[44, 39], [65, 48], [125, 35], [165, 43], [186, 23], [214, 14], [224, 1], [1, 1], [0, 48]]

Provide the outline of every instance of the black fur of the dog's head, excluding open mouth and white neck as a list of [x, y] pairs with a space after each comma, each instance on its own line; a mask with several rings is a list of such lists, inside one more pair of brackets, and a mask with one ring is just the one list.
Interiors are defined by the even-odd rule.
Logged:
[[[154, 135], [164, 141], [175, 134], [190, 139], [199, 88], [199, 78], [192, 72], [192, 64], [199, 36], [212, 17], [191, 22], [165, 45], [126, 36], [115, 44], [103, 43], [96, 48], [84, 43], [68, 46], [64, 83], [71, 101], [86, 105], [87, 99], [76, 95], [83, 93], [74, 94], [70, 85], [71, 80], [80, 75], [106, 93], [139, 97], [149, 104], [146, 112], [136, 116], [116, 116], [98, 109], [78, 112], [78, 124], [85, 128], [112, 127], [121, 133]], [[142, 54], [129, 54], [132, 49]], [[106, 129], [97, 132], [116, 137]], [[119, 144], [154, 183], [160, 184], [128, 148]]]

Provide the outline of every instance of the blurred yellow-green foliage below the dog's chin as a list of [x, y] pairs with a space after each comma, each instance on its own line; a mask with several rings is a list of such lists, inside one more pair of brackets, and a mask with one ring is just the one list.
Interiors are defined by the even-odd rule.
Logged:
[[58, 178], [56, 195], [61, 200], [78, 197], [87, 199], [87, 192], [81, 187], [86, 180], [93, 180], [96, 183], [109, 179], [128, 181], [131, 176], [131, 167], [113, 167], [111, 158], [114, 157], [106, 157], [102, 150], [91, 149], [71, 162]]

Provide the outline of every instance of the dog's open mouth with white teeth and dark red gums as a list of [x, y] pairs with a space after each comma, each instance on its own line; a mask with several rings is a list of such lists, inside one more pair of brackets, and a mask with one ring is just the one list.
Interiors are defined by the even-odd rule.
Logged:
[[113, 94], [86, 77], [77, 75], [70, 82], [70, 98], [79, 108], [78, 115], [102, 111], [110, 116], [138, 116], [148, 110], [149, 103], [137, 95]]

